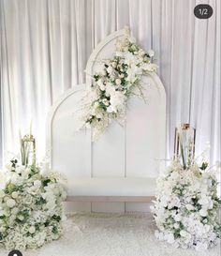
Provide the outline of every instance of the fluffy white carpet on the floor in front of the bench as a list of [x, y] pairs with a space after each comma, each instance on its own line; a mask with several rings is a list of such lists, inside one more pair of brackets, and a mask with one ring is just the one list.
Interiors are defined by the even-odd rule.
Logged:
[[[155, 239], [150, 215], [74, 214], [64, 236], [23, 256], [218, 256], [220, 246], [204, 252], [172, 248]], [[0, 250], [0, 256], [8, 251]]]

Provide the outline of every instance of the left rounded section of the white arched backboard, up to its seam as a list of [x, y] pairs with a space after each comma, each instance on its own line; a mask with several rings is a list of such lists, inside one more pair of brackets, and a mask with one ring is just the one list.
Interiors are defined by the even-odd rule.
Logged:
[[70, 89], [52, 106], [47, 118], [47, 155], [52, 168], [74, 177], [91, 176], [91, 134], [78, 117], [85, 84]]

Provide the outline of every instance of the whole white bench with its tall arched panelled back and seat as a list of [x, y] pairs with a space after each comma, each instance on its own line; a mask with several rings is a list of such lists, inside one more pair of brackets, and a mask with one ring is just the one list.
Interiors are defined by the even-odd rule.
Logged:
[[[95, 60], [111, 57], [115, 40], [123, 33], [111, 34], [96, 47], [87, 74], [99, 70]], [[96, 211], [93, 202], [117, 202], [117, 209], [119, 202], [150, 202], [154, 198], [155, 178], [165, 166], [159, 159], [164, 159], [166, 152], [166, 96], [155, 73], [143, 77], [143, 82], [148, 83], [147, 104], [140, 98], [129, 99], [125, 127], [112, 122], [96, 143], [91, 142], [90, 129], [76, 131], [81, 126], [76, 110], [85, 87], [91, 85], [90, 75], [86, 84], [76, 84], [53, 104], [47, 118], [47, 154], [52, 168], [67, 177], [67, 201], [92, 202]]]

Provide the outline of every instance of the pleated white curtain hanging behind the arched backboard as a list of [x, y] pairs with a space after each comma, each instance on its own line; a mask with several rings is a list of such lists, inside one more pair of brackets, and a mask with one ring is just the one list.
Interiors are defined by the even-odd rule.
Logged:
[[[214, 8], [199, 20], [194, 7]], [[4, 156], [17, 152], [19, 129], [32, 120], [43, 156], [50, 106], [85, 81], [86, 61], [96, 44], [129, 25], [139, 44], [155, 50], [167, 93], [167, 148], [181, 122], [197, 128], [197, 153], [211, 143], [220, 160], [219, 0], [0, 0], [1, 110]]]

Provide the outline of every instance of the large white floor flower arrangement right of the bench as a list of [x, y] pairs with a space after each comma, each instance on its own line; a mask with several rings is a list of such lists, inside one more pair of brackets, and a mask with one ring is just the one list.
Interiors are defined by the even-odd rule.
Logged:
[[157, 180], [152, 211], [158, 230], [156, 237], [176, 248], [211, 248], [221, 236], [217, 210], [217, 179], [214, 168], [202, 161], [185, 166], [179, 158]]

